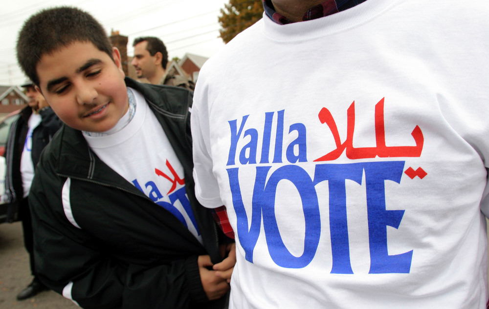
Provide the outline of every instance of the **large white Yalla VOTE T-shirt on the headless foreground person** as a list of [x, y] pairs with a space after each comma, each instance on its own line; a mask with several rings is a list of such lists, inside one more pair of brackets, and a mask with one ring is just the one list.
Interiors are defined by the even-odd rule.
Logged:
[[204, 64], [194, 177], [237, 236], [230, 308], [486, 308], [488, 3], [264, 17]]

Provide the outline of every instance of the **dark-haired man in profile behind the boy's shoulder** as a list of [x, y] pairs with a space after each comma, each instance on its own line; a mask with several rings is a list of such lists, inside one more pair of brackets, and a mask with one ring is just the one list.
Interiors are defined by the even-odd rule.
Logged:
[[177, 74], [167, 74], [168, 52], [156, 37], [140, 37], [133, 42], [134, 58], [131, 64], [138, 78], [146, 78], [152, 84], [170, 85], [194, 90], [194, 82]]

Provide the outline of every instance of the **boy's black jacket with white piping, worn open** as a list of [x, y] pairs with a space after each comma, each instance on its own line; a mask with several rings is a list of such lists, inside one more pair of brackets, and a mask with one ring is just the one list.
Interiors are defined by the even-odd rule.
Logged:
[[82, 132], [63, 125], [42, 154], [29, 194], [37, 272], [83, 308], [222, 308], [221, 300], [207, 301], [197, 265], [199, 255], [222, 260], [223, 234], [194, 194], [192, 92], [129, 78], [126, 84], [143, 94], [183, 165], [204, 246], [102, 162]]

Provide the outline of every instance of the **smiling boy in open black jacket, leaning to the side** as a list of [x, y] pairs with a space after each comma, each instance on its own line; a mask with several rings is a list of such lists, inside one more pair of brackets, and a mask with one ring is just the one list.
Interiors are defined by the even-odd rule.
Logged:
[[76, 8], [32, 16], [17, 52], [66, 124], [29, 194], [43, 283], [83, 308], [223, 308], [233, 245], [195, 199], [192, 93], [124, 79]]

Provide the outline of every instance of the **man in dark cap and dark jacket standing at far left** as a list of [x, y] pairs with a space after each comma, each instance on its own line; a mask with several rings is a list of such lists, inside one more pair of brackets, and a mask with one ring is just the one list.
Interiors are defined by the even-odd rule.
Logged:
[[39, 281], [34, 269], [33, 229], [27, 196], [34, 177], [34, 168], [39, 161], [44, 146], [61, 126], [61, 121], [48, 106], [43, 95], [28, 80], [22, 87], [29, 98], [28, 106], [20, 112], [20, 117], [12, 123], [5, 148], [6, 173], [5, 194], [2, 199], [19, 210], [22, 220], [24, 246], [29, 253], [32, 282], [18, 295], [24, 300], [37, 295], [47, 288]]

